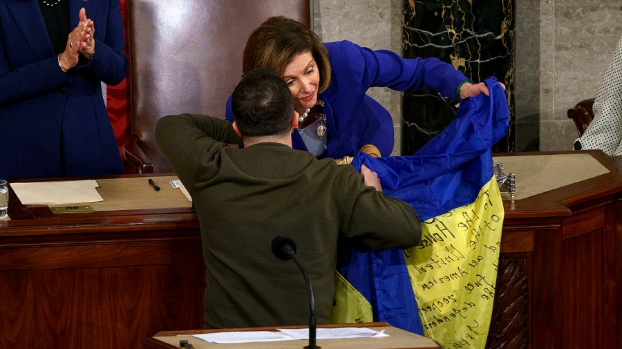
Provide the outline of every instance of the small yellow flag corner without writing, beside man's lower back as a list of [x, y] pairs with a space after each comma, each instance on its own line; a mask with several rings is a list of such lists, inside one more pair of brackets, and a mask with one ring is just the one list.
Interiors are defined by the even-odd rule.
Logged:
[[371, 304], [337, 271], [334, 272], [333, 297], [330, 323], [374, 321]]

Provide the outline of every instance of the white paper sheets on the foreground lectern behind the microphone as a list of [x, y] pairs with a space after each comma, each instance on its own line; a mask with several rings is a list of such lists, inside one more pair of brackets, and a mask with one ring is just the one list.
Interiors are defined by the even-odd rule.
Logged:
[[[194, 334], [193, 337], [209, 341], [211, 343], [249, 343], [256, 341], [294, 341], [297, 339], [309, 339], [309, 328], [278, 329], [278, 331], [239, 331], [217, 332], [207, 334]], [[315, 332], [316, 339], [343, 339], [362, 337], [389, 337], [384, 330], [375, 331], [369, 328], [318, 328]]]

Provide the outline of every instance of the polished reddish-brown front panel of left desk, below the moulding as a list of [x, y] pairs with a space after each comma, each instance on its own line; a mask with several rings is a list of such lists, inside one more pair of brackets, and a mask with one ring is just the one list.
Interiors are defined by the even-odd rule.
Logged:
[[202, 311], [187, 299], [200, 295], [191, 285], [202, 278], [186, 265], [2, 272], [1, 346], [136, 347], [163, 328], [200, 326]]

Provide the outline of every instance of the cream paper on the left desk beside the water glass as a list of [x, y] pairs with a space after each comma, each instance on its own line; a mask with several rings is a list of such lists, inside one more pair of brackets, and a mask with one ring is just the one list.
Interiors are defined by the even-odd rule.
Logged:
[[95, 180], [10, 183], [10, 186], [23, 205], [104, 201], [104, 198], [97, 192], [99, 185]]

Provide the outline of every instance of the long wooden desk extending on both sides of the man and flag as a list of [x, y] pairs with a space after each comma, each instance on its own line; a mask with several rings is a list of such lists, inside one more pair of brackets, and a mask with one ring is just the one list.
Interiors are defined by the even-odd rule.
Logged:
[[[577, 153], [610, 173], [504, 200], [489, 348], [622, 348], [622, 157]], [[205, 269], [187, 208], [54, 216], [10, 193], [9, 210], [0, 348], [140, 348], [201, 328]]]

